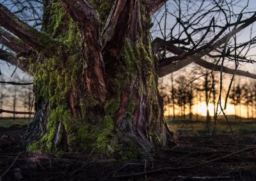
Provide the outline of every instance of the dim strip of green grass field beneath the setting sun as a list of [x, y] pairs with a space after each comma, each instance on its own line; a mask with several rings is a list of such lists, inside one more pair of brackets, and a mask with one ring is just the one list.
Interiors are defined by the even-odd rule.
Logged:
[[[208, 134], [207, 124], [205, 121], [194, 120], [167, 120], [168, 126], [172, 131], [182, 135], [205, 135]], [[237, 120], [230, 121], [230, 126], [234, 134], [256, 134], [256, 120]], [[209, 133], [214, 129], [214, 121], [209, 124]], [[216, 134], [230, 134], [230, 127], [225, 120], [216, 121]]]

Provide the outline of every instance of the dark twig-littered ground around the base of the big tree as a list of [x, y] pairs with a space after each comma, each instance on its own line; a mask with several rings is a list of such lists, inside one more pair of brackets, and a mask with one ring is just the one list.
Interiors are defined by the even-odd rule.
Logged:
[[230, 122], [235, 138], [225, 122], [217, 122], [218, 133], [209, 136], [205, 122], [171, 121], [168, 124], [177, 133], [176, 147], [126, 161], [93, 153], [53, 156], [26, 152], [20, 147], [26, 124], [10, 122], [9, 127], [0, 128], [2, 180], [256, 180], [256, 129], [252, 121]]

